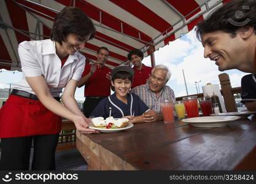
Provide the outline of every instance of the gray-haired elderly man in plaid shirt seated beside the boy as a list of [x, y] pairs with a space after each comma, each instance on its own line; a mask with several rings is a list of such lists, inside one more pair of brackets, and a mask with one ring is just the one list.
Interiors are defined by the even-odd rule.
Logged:
[[145, 85], [131, 89], [131, 93], [137, 94], [150, 109], [144, 113], [145, 122], [163, 120], [161, 100], [173, 99], [175, 102], [174, 91], [166, 85], [170, 77], [171, 71], [168, 67], [159, 64], [152, 69], [149, 81]]

